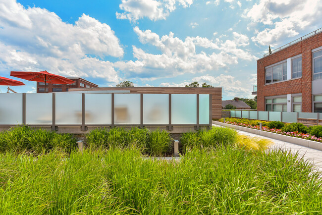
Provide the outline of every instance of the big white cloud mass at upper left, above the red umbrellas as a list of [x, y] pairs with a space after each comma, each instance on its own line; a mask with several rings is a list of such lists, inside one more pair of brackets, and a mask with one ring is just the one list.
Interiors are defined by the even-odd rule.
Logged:
[[119, 80], [112, 63], [100, 60], [123, 56], [119, 39], [107, 24], [88, 15], [67, 24], [54, 12], [5, 0], [0, 3], [0, 26], [0, 70], [46, 69], [63, 76]]

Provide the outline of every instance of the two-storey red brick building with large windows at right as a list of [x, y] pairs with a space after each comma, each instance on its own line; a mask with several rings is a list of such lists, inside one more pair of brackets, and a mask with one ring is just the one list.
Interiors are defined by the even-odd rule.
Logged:
[[322, 112], [322, 28], [257, 60], [257, 109]]

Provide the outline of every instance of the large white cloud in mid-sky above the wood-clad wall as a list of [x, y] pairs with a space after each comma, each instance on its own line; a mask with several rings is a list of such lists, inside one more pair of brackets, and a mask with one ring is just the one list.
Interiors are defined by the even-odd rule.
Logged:
[[[202, 37], [187, 37], [184, 41], [174, 37], [172, 32], [161, 38], [151, 30], [140, 30], [134, 27], [143, 44], [150, 44], [161, 51], [160, 54], [149, 54], [133, 46], [133, 55], [137, 59], [127, 62], [119, 61], [113, 65], [127, 75], [136, 77], [173, 77], [184, 73], [215, 71], [230, 64], [237, 64], [238, 58], [254, 60], [255, 56], [240, 49], [248, 45], [246, 35], [233, 32], [234, 40], [215, 41]], [[196, 53], [196, 46], [213, 50], [210, 54], [205, 51]]]

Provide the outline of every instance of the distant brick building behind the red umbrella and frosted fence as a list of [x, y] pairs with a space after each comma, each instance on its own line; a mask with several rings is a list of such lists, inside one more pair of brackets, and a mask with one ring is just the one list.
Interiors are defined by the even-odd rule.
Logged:
[[[46, 83], [46, 93], [53, 92], [66, 92], [71, 88], [94, 88], [99, 87], [97, 84], [93, 84], [82, 78], [68, 78], [75, 81], [73, 84], [50, 84]], [[45, 83], [37, 82], [37, 93], [44, 93]]]

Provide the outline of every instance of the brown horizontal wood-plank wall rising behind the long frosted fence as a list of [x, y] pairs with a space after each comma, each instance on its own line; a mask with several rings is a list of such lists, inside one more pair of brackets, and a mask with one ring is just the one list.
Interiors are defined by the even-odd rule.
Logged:
[[211, 94], [213, 119], [221, 118], [221, 87], [99, 87], [99, 88], [78, 88], [70, 91], [115, 91], [129, 90], [130, 93], [144, 94]]

